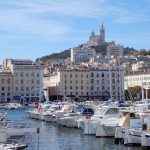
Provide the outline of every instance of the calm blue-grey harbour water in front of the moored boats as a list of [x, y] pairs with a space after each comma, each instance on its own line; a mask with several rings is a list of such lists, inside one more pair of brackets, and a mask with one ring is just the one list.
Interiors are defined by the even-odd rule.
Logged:
[[[70, 129], [55, 123], [30, 119], [24, 110], [9, 110], [8, 118], [28, 122], [32, 127], [40, 127], [39, 150], [140, 150], [141, 148], [115, 145], [111, 138], [85, 136], [80, 129]], [[32, 148], [37, 150], [37, 135], [28, 136]]]

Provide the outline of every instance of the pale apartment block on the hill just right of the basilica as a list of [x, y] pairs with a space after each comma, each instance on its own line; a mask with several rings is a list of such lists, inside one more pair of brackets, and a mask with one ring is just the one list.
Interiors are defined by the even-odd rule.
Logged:
[[107, 46], [107, 57], [122, 57], [124, 55], [124, 48], [122, 45], [116, 45], [115, 43], [111, 43]]

